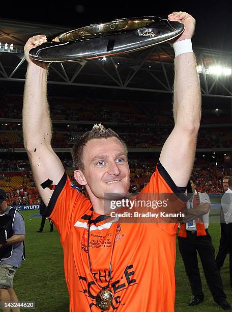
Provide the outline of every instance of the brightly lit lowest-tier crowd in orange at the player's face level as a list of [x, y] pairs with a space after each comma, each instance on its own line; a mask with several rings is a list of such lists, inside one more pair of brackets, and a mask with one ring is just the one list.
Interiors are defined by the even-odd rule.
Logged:
[[[0, 170], [0, 188], [8, 189], [7, 197], [9, 205], [39, 204], [40, 196], [35, 187], [30, 165], [26, 161], [2, 161]], [[64, 160], [64, 167], [68, 170], [74, 184], [77, 182], [73, 177], [72, 161]], [[143, 162], [141, 160], [130, 160], [131, 171], [130, 190], [131, 193], [141, 191], [149, 182], [150, 176], [156, 170], [157, 160], [151, 159]], [[15, 172], [8, 171], [6, 167], [14, 166]], [[22, 167], [23, 166], [23, 167]], [[20, 172], [21, 169], [26, 171]], [[21, 185], [12, 186], [15, 175], [21, 177]], [[207, 193], [222, 192], [222, 178], [225, 175], [232, 175], [230, 164], [214, 163], [195, 164], [193, 174], [196, 178], [197, 191]], [[81, 192], [86, 194], [85, 188], [80, 187]]]

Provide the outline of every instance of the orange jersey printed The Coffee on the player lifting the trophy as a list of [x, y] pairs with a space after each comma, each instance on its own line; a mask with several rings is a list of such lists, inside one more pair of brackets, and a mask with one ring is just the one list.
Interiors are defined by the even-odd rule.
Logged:
[[[172, 193], [178, 188], [158, 163], [142, 192]], [[65, 173], [46, 215], [61, 235], [70, 311], [100, 311], [96, 306], [101, 291], [97, 282], [102, 287], [108, 284], [110, 260], [113, 301], [109, 311], [174, 311], [177, 223], [107, 223], [104, 216], [93, 212], [89, 245], [92, 274], [87, 253], [91, 208], [90, 200]]]

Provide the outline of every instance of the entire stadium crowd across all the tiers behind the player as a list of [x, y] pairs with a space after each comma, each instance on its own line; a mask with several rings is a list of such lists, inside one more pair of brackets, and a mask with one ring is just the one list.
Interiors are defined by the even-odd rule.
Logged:
[[[75, 102], [75, 99], [53, 99], [51, 101], [51, 117], [55, 120], [88, 120], [88, 121], [111, 121], [115, 125], [110, 126], [127, 143], [129, 148], [158, 148], [163, 145], [171, 132], [173, 118], [171, 112], [159, 115], [154, 106], [133, 106], [130, 103], [112, 103], [91, 101]], [[21, 100], [0, 101], [0, 116], [2, 118], [21, 118]], [[154, 117], [155, 116], [155, 117]], [[207, 116], [203, 114], [202, 123], [225, 123], [231, 122], [230, 116]], [[116, 125], [118, 123], [118, 125]], [[152, 124], [152, 125], [151, 125]], [[92, 128], [93, 124], [53, 124], [53, 148], [70, 148], [76, 138], [83, 132]], [[232, 137], [226, 127], [200, 128], [197, 147], [231, 147]], [[22, 148], [22, 125], [21, 122], [0, 123], [0, 147]], [[155, 171], [157, 160], [131, 160], [131, 186], [130, 192], [139, 192], [148, 183], [151, 174]], [[72, 161], [64, 160], [66, 170], [72, 172]], [[28, 161], [0, 160], [0, 188], [8, 190], [8, 204], [38, 204], [40, 198], [35, 188], [32, 172]], [[14, 176], [21, 177], [20, 185], [13, 185]], [[224, 175], [232, 175], [232, 168], [228, 164], [215, 165], [208, 162], [194, 166], [197, 190], [199, 192], [220, 193], [222, 192], [221, 179]], [[72, 173], [70, 177], [73, 179]], [[85, 193], [85, 188], [81, 187]]]

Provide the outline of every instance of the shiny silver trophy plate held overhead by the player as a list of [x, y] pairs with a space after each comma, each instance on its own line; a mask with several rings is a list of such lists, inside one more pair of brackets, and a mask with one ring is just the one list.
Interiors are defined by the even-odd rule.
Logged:
[[[132, 17], [71, 30], [30, 50], [43, 62], [84, 61], [147, 48], [179, 36], [184, 24], [161, 17]], [[55, 37], [59, 42], [52, 41]]]

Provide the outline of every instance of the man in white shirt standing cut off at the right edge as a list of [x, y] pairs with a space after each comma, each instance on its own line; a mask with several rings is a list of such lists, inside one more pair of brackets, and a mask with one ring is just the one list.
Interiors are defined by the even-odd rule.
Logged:
[[228, 179], [228, 190], [221, 198], [224, 219], [226, 223], [226, 235], [229, 246], [229, 275], [232, 287], [232, 177]]

